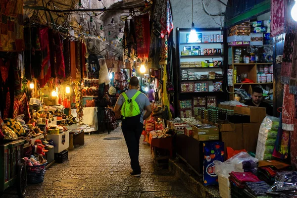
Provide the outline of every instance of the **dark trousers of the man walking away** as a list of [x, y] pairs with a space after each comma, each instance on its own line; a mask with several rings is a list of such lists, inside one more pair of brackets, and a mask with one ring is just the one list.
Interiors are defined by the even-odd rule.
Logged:
[[131, 168], [135, 174], [141, 173], [139, 165], [139, 139], [143, 131], [143, 124], [139, 119], [122, 120], [122, 132], [131, 159]]

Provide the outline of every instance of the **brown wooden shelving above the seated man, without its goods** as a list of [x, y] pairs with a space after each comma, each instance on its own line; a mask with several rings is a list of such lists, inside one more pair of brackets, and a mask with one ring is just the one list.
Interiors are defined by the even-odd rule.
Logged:
[[[272, 62], [264, 62], [264, 63], [234, 63], [234, 50], [238, 48], [247, 48], [248, 46], [235, 46], [235, 47], [229, 47], [228, 49], [228, 61], [229, 61], [229, 69], [233, 69], [233, 81], [234, 81], [234, 69], [236, 67], [237, 69], [237, 75], [241, 75], [243, 73], [247, 73], [247, 78], [252, 80], [254, 83], [233, 83], [233, 86], [228, 86], [228, 90], [230, 93], [235, 92], [235, 88], [245, 89], [248, 94], [252, 94], [252, 88], [256, 85], [263, 85], [263, 86], [272, 86], [274, 89], [274, 83], [273, 79], [271, 83], [257, 83], [257, 67], [260, 65], [272, 65]], [[231, 50], [230, 50], [231, 49]], [[230, 52], [232, 54], [230, 54]], [[230, 55], [232, 57], [230, 58]], [[231, 64], [230, 64], [230, 61]], [[265, 88], [265, 87], [264, 87]], [[234, 100], [235, 94], [229, 94], [229, 100]]]

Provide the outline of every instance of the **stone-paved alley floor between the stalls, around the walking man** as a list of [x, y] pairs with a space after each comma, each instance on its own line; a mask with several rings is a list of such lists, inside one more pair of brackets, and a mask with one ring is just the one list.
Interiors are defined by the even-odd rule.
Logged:
[[[121, 140], [103, 140], [122, 137]], [[142, 140], [143, 137], [141, 137]], [[44, 182], [27, 187], [26, 198], [195, 198], [168, 170], [155, 168], [149, 146], [141, 144], [141, 178], [130, 176], [130, 158], [120, 127], [110, 135], [85, 135], [85, 145], [69, 151], [68, 161], [52, 165]], [[54, 182], [77, 178], [76, 187], [59, 187]], [[7, 189], [1, 198], [14, 198]]]

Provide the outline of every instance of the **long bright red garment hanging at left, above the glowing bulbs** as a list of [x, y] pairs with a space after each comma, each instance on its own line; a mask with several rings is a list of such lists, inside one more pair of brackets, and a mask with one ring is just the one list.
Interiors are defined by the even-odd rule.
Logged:
[[39, 28], [38, 32], [40, 49], [42, 53], [42, 64], [40, 76], [37, 76], [40, 87], [43, 88], [49, 81], [51, 76], [50, 60], [49, 60], [49, 28]]

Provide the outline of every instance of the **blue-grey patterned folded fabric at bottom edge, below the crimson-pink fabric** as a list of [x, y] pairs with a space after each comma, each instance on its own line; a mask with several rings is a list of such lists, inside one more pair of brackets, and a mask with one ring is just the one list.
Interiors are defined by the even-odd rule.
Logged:
[[266, 182], [247, 182], [244, 194], [249, 198], [257, 198], [258, 196], [267, 196], [266, 192], [270, 189], [270, 186]]

